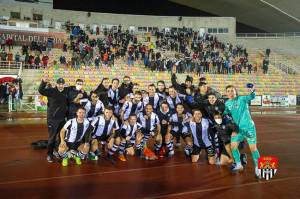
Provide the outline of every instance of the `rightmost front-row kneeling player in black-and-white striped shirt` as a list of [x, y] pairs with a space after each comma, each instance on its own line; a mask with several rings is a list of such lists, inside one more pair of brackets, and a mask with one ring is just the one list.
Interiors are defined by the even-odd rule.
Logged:
[[200, 110], [193, 111], [193, 119], [186, 124], [183, 132], [193, 138], [192, 162], [197, 162], [201, 149], [205, 149], [209, 164], [215, 164], [215, 150], [209, 138], [210, 126], [207, 119], [202, 118]]

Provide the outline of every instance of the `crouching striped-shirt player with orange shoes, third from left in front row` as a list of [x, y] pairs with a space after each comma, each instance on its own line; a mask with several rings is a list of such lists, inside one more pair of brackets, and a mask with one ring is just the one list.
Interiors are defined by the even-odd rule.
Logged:
[[141, 151], [141, 141], [143, 138], [142, 134], [142, 126], [137, 123], [137, 116], [135, 114], [131, 114], [128, 118], [128, 122], [122, 125], [120, 136], [121, 136], [121, 144], [119, 148], [119, 159], [121, 161], [126, 161], [125, 154], [127, 155], [135, 155], [135, 150]]

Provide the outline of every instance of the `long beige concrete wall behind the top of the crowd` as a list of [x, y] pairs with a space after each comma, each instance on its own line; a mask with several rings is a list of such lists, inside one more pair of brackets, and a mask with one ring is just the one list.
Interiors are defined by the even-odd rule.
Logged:
[[[1, 1], [2, 2], [2, 1]], [[32, 18], [34, 14], [43, 15], [43, 23], [55, 25], [55, 22], [64, 24], [67, 20], [75, 24], [89, 25], [119, 25], [124, 28], [130, 26], [137, 27], [188, 27], [193, 29], [205, 28], [228, 28], [227, 35], [235, 36], [236, 19], [234, 17], [173, 17], [173, 16], [146, 16], [146, 15], [124, 15], [124, 14], [106, 14], [91, 12], [88, 16], [87, 12], [57, 10], [53, 9], [51, 4], [33, 4], [33, 3], [16, 3], [15, 1], [0, 2], [0, 16], [10, 16], [10, 12], [20, 12], [21, 19], [24, 17]]]

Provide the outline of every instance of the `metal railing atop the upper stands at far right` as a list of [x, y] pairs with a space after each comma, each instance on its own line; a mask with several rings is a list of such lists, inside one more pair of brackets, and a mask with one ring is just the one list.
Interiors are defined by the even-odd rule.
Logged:
[[300, 32], [283, 33], [236, 33], [237, 38], [296, 38], [300, 37]]

